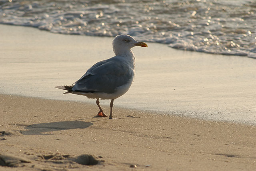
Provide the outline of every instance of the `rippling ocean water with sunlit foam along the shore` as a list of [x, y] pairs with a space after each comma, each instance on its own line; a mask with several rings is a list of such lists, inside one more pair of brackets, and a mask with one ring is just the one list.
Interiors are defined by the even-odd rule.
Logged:
[[254, 0], [0, 0], [0, 23], [256, 58]]

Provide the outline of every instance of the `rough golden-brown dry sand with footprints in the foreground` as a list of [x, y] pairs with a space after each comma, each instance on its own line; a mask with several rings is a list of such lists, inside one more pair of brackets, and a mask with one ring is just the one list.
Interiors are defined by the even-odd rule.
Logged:
[[[87, 103], [0, 95], [0, 163], [16, 166], [0, 170], [256, 170], [255, 126], [115, 106], [116, 119], [97, 112]], [[78, 164], [85, 154], [101, 162]]]

